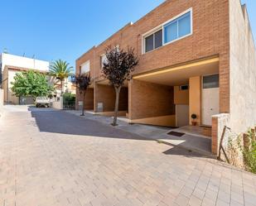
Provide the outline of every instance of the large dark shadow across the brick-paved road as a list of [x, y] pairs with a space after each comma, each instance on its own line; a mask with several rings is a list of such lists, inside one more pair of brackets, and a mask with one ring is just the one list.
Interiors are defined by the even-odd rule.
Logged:
[[70, 113], [47, 108], [44, 110], [30, 107], [28, 110], [31, 111], [31, 116], [35, 118], [36, 126], [40, 132], [152, 141], [110, 125], [77, 117]]

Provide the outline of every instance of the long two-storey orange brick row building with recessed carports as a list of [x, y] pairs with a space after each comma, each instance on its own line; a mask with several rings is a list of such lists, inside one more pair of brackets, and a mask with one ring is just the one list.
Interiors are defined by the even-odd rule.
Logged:
[[120, 115], [130, 122], [182, 127], [196, 114], [198, 126], [212, 128], [215, 154], [224, 125], [236, 133], [255, 126], [254, 38], [239, 0], [167, 0], [80, 56], [76, 74], [93, 79], [85, 106], [107, 115], [115, 100], [101, 73], [109, 45], [133, 46], [139, 57], [120, 94]]

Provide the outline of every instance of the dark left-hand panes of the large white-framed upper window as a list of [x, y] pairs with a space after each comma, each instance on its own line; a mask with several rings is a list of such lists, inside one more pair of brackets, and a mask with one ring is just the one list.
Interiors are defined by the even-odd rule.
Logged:
[[162, 46], [162, 30], [145, 38], [145, 52], [155, 50], [160, 46]]

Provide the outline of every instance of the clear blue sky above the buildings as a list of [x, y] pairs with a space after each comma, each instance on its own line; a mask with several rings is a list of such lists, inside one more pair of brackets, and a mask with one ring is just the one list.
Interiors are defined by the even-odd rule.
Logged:
[[[0, 52], [63, 59], [75, 66], [86, 50], [163, 0], [1, 0]], [[256, 37], [256, 1], [246, 2]]]

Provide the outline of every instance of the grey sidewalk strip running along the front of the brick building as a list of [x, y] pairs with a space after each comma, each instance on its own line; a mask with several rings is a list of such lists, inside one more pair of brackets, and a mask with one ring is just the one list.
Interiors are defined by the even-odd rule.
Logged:
[[[66, 113], [72, 113], [76, 116], [80, 116], [81, 111], [77, 110], [65, 110]], [[80, 116], [81, 117], [81, 116]], [[94, 121], [102, 122], [104, 124], [110, 125], [113, 121], [113, 117], [105, 117], [102, 115], [97, 115], [93, 112], [85, 112], [83, 118], [91, 119]], [[185, 134], [182, 137], [176, 137], [168, 135], [168, 132], [172, 130], [169, 127], [156, 127], [148, 126], [142, 124], [129, 124], [128, 119], [125, 117], [118, 117], [118, 126], [117, 128], [125, 131], [152, 139], [158, 142], [162, 142], [171, 146], [183, 147], [189, 151], [196, 151], [205, 156], [214, 157], [210, 152], [211, 140], [203, 138], [196, 135]]]

